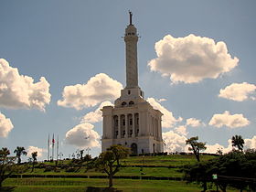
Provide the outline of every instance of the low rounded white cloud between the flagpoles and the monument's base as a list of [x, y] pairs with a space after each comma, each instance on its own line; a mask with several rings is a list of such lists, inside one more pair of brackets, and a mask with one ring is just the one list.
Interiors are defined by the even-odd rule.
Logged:
[[93, 130], [91, 123], [80, 123], [66, 133], [66, 143], [78, 147], [100, 147], [99, 133]]

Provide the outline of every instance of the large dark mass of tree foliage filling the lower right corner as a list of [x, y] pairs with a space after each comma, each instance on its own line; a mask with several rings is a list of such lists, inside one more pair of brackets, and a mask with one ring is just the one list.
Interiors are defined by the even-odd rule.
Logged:
[[186, 165], [183, 172], [187, 182], [196, 181], [200, 184], [213, 182], [211, 176], [217, 174], [217, 184], [222, 191], [226, 191], [228, 185], [241, 190], [246, 187], [255, 190], [256, 186], [252, 178], [256, 177], [256, 151], [248, 150], [245, 153], [232, 151], [216, 159]]

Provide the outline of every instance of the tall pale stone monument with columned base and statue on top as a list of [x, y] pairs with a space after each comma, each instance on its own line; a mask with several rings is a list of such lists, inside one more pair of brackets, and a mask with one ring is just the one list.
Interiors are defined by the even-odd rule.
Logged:
[[162, 112], [144, 100], [144, 92], [138, 86], [137, 42], [138, 34], [133, 26], [133, 14], [125, 28], [126, 87], [114, 106], [104, 106], [101, 151], [112, 144], [130, 147], [132, 154], [163, 152]]

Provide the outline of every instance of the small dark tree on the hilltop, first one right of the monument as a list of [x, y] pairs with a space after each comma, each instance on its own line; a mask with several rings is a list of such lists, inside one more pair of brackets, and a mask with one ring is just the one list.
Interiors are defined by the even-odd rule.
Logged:
[[203, 142], [197, 142], [198, 137], [191, 137], [190, 139], [187, 139], [186, 144], [190, 144], [191, 147], [188, 148], [189, 151], [193, 151], [194, 155], [197, 158], [197, 162], [200, 161], [200, 150], [206, 150], [206, 143]]

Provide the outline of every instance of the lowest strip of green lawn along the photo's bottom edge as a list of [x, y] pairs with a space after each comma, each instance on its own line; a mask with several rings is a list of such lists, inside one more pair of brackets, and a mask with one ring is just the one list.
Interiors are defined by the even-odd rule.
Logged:
[[[15, 191], [84, 191], [85, 187], [108, 187], [107, 179], [22, 178], [6, 179], [4, 186]], [[178, 181], [114, 179], [113, 187], [123, 191], [199, 191], [196, 185]]]

